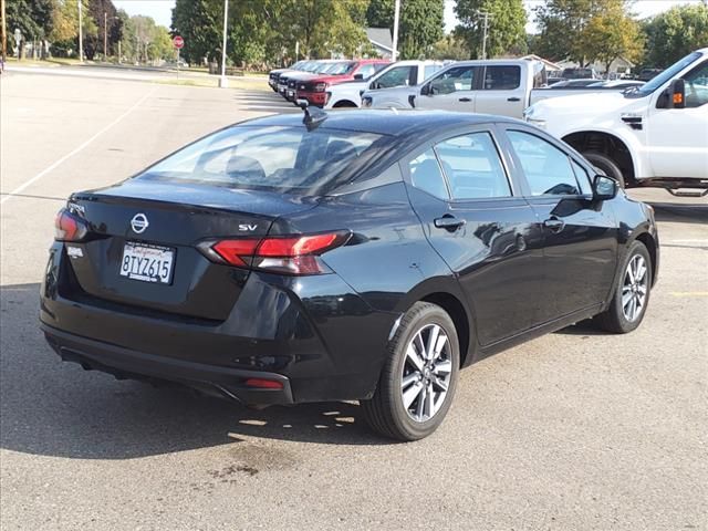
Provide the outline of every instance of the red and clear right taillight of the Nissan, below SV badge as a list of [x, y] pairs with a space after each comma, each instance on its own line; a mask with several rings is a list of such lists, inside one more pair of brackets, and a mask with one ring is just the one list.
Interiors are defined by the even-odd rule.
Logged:
[[322, 274], [330, 272], [320, 256], [343, 246], [348, 231], [299, 235], [263, 239], [207, 241], [199, 249], [221, 263], [285, 274]]

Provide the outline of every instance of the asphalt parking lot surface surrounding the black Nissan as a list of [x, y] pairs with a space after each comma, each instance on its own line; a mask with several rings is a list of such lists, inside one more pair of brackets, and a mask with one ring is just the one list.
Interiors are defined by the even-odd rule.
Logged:
[[[662, 190], [636, 332], [581, 323], [462, 372], [431, 437], [356, 404], [251, 410], [62, 364], [38, 329], [53, 219], [272, 93], [3, 74], [0, 528], [708, 529], [708, 201]], [[293, 107], [294, 108], [294, 107]]]

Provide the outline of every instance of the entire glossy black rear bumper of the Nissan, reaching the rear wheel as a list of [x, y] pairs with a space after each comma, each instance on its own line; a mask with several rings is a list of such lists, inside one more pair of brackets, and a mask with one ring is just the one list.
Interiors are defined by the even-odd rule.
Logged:
[[[252, 272], [227, 319], [205, 321], [90, 295], [70, 280], [67, 261], [54, 243], [40, 292], [42, 330], [62, 357], [248, 404], [371, 397], [398, 316], [373, 310], [336, 274]], [[253, 377], [283, 389], [246, 387]]]

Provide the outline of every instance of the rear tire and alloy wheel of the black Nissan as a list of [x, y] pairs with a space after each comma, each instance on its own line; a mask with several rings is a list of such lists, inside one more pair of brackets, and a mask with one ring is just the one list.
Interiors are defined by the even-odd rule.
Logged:
[[459, 341], [450, 316], [436, 304], [415, 303], [388, 344], [374, 396], [361, 402], [366, 421], [393, 439], [427, 437], [450, 408], [459, 366]]

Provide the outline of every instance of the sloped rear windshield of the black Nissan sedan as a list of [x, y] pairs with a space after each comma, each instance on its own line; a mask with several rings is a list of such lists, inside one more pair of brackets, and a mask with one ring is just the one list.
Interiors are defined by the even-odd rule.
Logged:
[[315, 194], [371, 160], [373, 133], [283, 126], [235, 126], [180, 149], [135, 178]]

